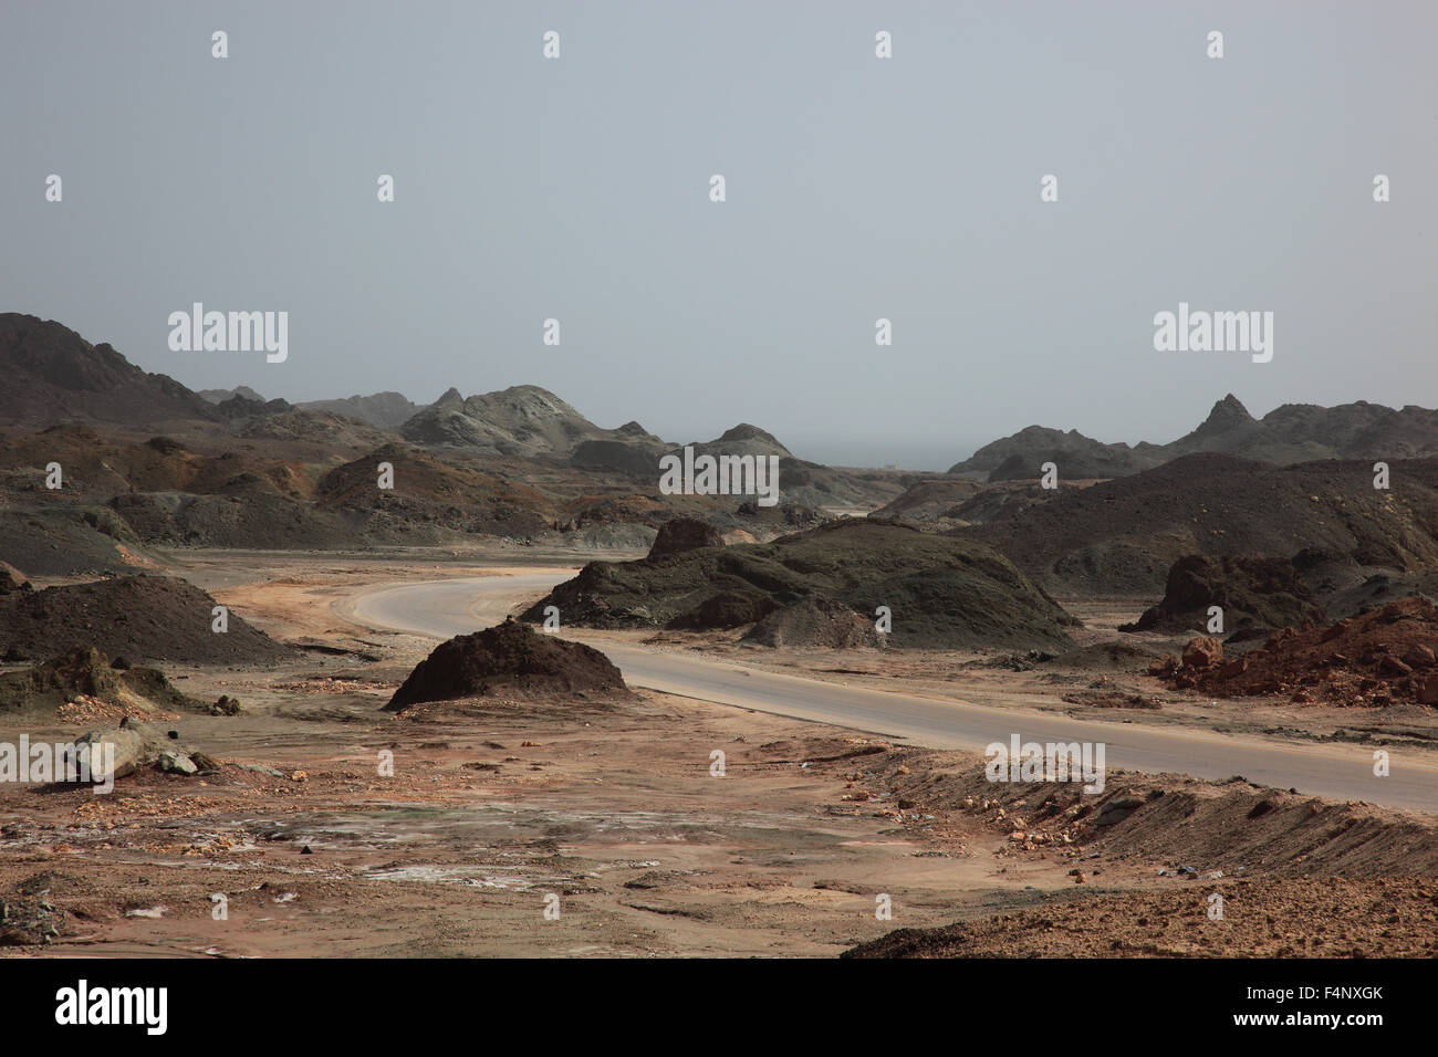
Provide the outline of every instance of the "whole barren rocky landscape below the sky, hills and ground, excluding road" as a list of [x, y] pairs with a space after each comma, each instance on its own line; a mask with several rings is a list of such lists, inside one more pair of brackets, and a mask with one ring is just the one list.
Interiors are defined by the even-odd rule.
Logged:
[[[759, 508], [659, 495], [677, 444], [538, 387], [196, 394], [14, 315], [0, 362], [24, 383], [0, 398], [0, 726], [119, 759], [112, 798], [0, 788], [0, 948], [531, 953], [552, 890], [554, 952], [1434, 953], [1426, 821], [1237, 777], [995, 787], [972, 754], [751, 710], [762, 690], [631, 690], [605, 656], [1406, 767], [1438, 708], [1431, 413], [1228, 398], [1169, 446], [1034, 427], [951, 475], [808, 463], [752, 424], [693, 441], [779, 459]], [[646, 557], [572, 575], [607, 549]], [[561, 634], [436, 646], [345, 608], [495, 564], [533, 584], [519, 554], [572, 578], [483, 618], [446, 585], [444, 618], [555, 605]], [[739, 781], [696, 807], [716, 746]], [[224, 866], [243, 929], [211, 925], [190, 860]], [[1208, 929], [1199, 887], [1245, 930]]]

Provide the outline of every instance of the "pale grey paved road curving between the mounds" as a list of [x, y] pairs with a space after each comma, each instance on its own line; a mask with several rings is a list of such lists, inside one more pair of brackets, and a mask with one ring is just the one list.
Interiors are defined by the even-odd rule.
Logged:
[[[506, 613], [521, 611], [574, 572], [554, 569], [378, 587], [347, 600], [342, 611], [371, 627], [449, 639], [499, 623]], [[1284, 743], [1080, 720], [1021, 708], [838, 686], [699, 654], [618, 644], [574, 631], [564, 634], [601, 649], [630, 686], [905, 738], [916, 745], [982, 751], [989, 742], [1008, 743], [1015, 733], [1035, 742], [1104, 742], [1109, 768], [1206, 779], [1241, 774], [1264, 785], [1333, 800], [1438, 813], [1438, 765], [1412, 754], [1405, 756], [1402, 751], [1393, 751], [1392, 774], [1378, 778], [1372, 749], [1353, 745]]]

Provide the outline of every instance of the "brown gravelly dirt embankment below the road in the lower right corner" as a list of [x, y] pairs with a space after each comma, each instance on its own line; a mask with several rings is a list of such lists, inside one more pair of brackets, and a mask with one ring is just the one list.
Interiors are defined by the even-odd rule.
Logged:
[[[902, 814], [968, 817], [1007, 834], [1002, 857], [1071, 863], [1074, 887], [1015, 913], [899, 929], [846, 956], [1438, 955], [1438, 825], [1428, 817], [1240, 777], [1109, 772], [1102, 794], [1084, 795], [1073, 782], [989, 782], [982, 767], [949, 759], [876, 756], [850, 775], [863, 788], [851, 795], [887, 790]], [[1146, 890], [1107, 887], [1143, 870]]]

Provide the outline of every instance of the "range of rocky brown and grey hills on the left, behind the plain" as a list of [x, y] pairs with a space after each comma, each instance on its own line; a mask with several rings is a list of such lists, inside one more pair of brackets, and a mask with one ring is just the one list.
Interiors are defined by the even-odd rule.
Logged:
[[[587, 549], [647, 546], [673, 516], [769, 539], [823, 506], [873, 508], [897, 473], [792, 457], [738, 426], [697, 444], [775, 454], [781, 503], [664, 496], [676, 444], [637, 423], [597, 427], [533, 385], [420, 407], [398, 393], [292, 404], [246, 387], [191, 393], [56, 322], [0, 316], [0, 562], [27, 575], [154, 568], [154, 548], [456, 546], [503, 538]], [[378, 488], [378, 466], [394, 488]], [[50, 466], [62, 482], [52, 488]]]

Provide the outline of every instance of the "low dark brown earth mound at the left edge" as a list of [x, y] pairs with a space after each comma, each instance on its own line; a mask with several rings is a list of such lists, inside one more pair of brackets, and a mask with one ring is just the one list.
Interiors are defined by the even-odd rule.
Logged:
[[0, 653], [49, 657], [93, 646], [111, 657], [263, 664], [290, 656], [236, 613], [211, 631], [217, 603], [173, 577], [116, 577], [0, 597]]

